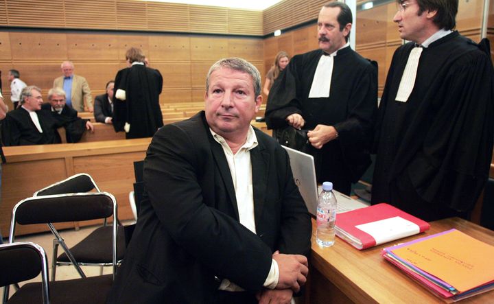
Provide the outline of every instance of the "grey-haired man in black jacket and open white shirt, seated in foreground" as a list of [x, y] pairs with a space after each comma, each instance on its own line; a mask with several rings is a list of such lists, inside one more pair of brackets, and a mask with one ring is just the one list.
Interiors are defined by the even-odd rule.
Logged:
[[285, 150], [250, 126], [259, 71], [240, 58], [216, 62], [204, 100], [205, 111], [152, 139], [108, 303], [290, 303], [305, 283], [310, 215]]

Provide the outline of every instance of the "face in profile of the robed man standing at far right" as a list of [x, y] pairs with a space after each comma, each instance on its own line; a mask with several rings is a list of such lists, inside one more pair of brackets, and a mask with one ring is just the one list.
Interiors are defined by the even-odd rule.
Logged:
[[426, 32], [427, 13], [422, 12], [419, 16], [419, 10], [419, 4], [415, 0], [401, 1], [401, 4], [398, 5], [398, 12], [395, 14], [393, 21], [398, 25], [401, 39], [420, 44], [430, 36]]

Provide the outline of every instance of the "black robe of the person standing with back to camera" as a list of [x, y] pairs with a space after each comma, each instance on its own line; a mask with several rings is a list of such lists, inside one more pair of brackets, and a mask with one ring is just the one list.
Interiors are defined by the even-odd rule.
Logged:
[[159, 104], [159, 95], [163, 87], [163, 78], [156, 69], [144, 65], [132, 65], [118, 71], [115, 77], [115, 95], [117, 91], [126, 92], [126, 100], [113, 97], [113, 127], [116, 132], [124, 131], [126, 123], [130, 131], [126, 138], [152, 137], [163, 126], [163, 115]]

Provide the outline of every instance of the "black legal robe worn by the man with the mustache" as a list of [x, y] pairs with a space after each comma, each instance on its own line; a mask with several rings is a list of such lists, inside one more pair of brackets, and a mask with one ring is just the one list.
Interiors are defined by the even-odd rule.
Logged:
[[334, 58], [329, 97], [309, 98], [322, 54], [318, 49], [290, 60], [270, 90], [266, 124], [270, 129], [284, 128], [285, 118], [299, 113], [305, 129], [334, 126], [338, 139], [326, 143], [320, 152], [313, 150], [320, 154], [318, 182], [340, 180], [349, 186], [371, 163], [368, 150], [377, 110], [377, 67], [351, 47], [340, 49]]

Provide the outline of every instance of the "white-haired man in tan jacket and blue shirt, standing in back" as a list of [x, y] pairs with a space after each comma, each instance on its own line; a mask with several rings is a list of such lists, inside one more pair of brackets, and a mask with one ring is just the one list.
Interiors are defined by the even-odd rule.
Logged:
[[64, 61], [61, 65], [63, 75], [54, 80], [54, 88], [63, 89], [67, 93], [66, 102], [78, 112], [93, 112], [93, 97], [86, 78], [73, 73], [74, 65]]

